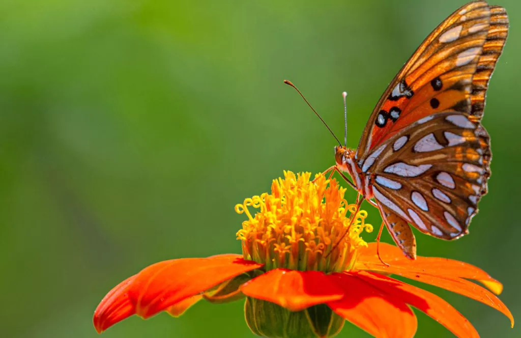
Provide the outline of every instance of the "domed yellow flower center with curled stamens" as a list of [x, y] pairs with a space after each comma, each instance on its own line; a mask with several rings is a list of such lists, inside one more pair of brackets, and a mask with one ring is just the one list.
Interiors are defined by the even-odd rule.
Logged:
[[[367, 212], [344, 199], [345, 188], [322, 174], [284, 172], [274, 179], [271, 194], [247, 198], [235, 206], [248, 219], [237, 238], [245, 259], [264, 263], [266, 270], [288, 268], [324, 272], [350, 270], [360, 234], [373, 231]], [[258, 209], [252, 216], [248, 207]]]

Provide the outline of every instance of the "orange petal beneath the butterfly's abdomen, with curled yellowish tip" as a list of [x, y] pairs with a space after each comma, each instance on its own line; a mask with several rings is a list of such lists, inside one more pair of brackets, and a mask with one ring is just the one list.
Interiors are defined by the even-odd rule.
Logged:
[[[503, 290], [503, 285], [499, 281], [478, 267], [465, 262], [438, 257], [417, 257], [415, 260], [410, 260], [399, 248], [387, 243], [380, 243], [380, 257], [394, 269], [403, 268], [408, 272], [473, 279], [483, 283], [495, 294], [500, 294]], [[378, 259], [376, 243], [369, 243], [367, 248], [361, 249], [355, 269], [395, 273], [388, 271], [387, 265]]]

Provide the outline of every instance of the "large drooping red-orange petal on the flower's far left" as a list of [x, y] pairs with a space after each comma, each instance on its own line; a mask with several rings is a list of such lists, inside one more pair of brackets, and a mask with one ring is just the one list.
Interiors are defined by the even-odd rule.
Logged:
[[103, 332], [134, 314], [143, 318], [154, 316], [183, 299], [261, 267], [263, 264], [232, 254], [152, 264], [105, 296], [94, 312], [94, 326]]

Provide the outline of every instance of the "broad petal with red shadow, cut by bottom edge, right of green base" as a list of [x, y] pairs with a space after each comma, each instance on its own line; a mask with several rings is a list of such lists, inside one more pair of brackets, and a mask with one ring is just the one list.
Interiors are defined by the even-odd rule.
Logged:
[[413, 311], [400, 298], [359, 279], [356, 273], [335, 273], [330, 280], [340, 286], [344, 298], [328, 303], [339, 316], [375, 337], [407, 338], [416, 333]]

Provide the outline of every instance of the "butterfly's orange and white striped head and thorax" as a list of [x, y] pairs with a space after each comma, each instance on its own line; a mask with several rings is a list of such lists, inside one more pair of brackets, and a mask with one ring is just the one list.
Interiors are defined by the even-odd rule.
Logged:
[[362, 169], [358, 166], [355, 160], [355, 151], [344, 146], [337, 146], [334, 148], [334, 158], [337, 167], [348, 173], [353, 179], [356, 189], [362, 196], [366, 198], [373, 197], [373, 189], [370, 185], [370, 176], [365, 175]]

